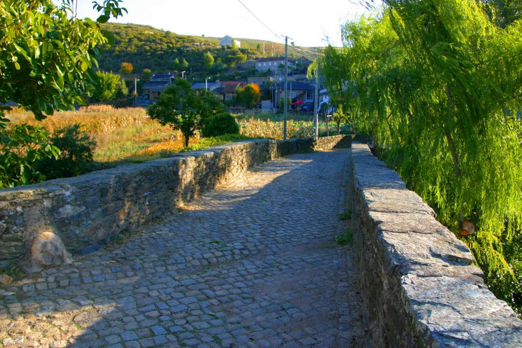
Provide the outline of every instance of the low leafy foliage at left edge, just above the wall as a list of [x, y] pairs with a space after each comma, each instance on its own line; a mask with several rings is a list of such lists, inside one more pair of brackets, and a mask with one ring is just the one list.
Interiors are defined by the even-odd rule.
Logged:
[[43, 158], [57, 158], [60, 150], [48, 141], [39, 126], [16, 125], [0, 129], [0, 188], [35, 184], [45, 180], [36, 169]]

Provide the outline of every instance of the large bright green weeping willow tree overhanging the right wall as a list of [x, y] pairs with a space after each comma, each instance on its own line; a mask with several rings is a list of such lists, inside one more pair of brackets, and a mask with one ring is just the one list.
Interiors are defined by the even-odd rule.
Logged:
[[[346, 23], [321, 69], [382, 158], [464, 240], [500, 298], [522, 309], [522, 20], [474, 0], [387, 0]], [[460, 236], [463, 221], [476, 233]], [[519, 238], [522, 239], [522, 238]], [[506, 255], [504, 244], [509, 244]], [[511, 243], [511, 244], [510, 244]], [[508, 259], [512, 262], [509, 264]], [[520, 259], [519, 261], [522, 261]]]

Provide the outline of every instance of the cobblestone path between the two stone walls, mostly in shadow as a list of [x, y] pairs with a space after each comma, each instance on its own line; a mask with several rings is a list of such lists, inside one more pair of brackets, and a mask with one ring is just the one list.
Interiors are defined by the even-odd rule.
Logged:
[[0, 289], [4, 346], [349, 347], [348, 150], [291, 155], [125, 243]]

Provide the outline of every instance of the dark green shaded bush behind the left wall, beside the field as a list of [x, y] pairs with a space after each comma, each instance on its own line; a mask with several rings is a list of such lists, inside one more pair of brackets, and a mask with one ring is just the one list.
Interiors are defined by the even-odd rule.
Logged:
[[50, 139], [60, 149], [57, 158], [43, 158], [37, 163], [39, 172], [46, 179], [77, 176], [90, 170], [96, 141], [80, 125], [75, 124], [57, 129]]

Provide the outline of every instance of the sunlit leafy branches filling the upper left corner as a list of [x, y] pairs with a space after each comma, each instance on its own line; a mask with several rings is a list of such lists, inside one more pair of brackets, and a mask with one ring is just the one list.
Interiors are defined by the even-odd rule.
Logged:
[[[0, 2], [0, 103], [8, 100], [34, 113], [37, 119], [54, 110], [83, 103], [96, 81], [99, 44], [110, 34], [89, 18], [71, 17], [69, 1], [57, 7], [51, 0]], [[118, 17], [116, 0], [104, 1], [99, 22]], [[30, 23], [30, 25], [28, 25]], [[0, 110], [0, 127], [7, 121]]]

